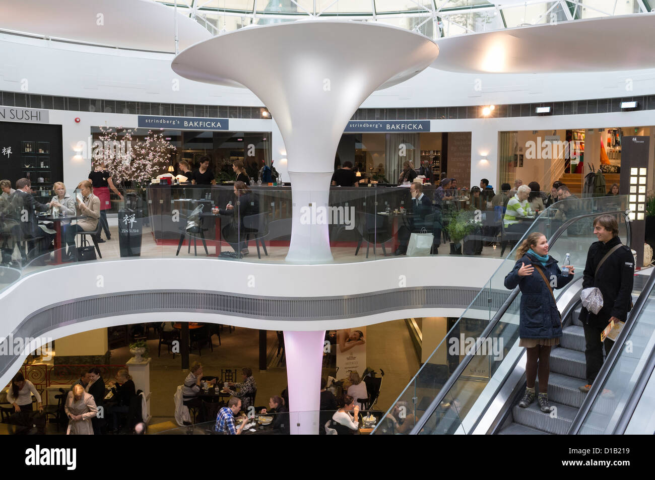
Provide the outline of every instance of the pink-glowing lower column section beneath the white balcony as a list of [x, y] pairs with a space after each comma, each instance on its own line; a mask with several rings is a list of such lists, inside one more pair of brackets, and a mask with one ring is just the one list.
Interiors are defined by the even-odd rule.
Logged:
[[325, 331], [285, 331], [291, 435], [318, 435]]

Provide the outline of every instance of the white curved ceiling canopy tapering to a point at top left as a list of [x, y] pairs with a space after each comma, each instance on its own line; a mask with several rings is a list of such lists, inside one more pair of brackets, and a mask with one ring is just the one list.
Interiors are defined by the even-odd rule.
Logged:
[[[174, 12], [147, 0], [0, 0], [0, 29], [175, 52]], [[212, 35], [178, 13], [179, 50]]]

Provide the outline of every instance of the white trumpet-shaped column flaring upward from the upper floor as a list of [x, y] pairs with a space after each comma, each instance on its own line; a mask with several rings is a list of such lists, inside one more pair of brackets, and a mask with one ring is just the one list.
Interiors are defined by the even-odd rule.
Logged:
[[[205, 83], [246, 86], [271, 111], [288, 158], [293, 198], [286, 260], [332, 260], [328, 225], [303, 221], [327, 207], [334, 156], [348, 120], [376, 89], [413, 77], [439, 54], [405, 29], [352, 21], [299, 21], [242, 28], [181, 52], [172, 68]], [[308, 215], [305, 215], [305, 219]]]

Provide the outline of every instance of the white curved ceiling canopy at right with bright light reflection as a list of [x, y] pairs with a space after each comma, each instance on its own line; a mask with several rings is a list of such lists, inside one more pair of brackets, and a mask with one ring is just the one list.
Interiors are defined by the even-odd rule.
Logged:
[[655, 67], [655, 14], [592, 18], [440, 39], [436, 69], [561, 73]]

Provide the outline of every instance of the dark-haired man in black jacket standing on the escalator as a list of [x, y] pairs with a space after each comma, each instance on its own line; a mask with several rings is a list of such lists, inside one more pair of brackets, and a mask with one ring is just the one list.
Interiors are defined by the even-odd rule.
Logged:
[[[587, 361], [587, 384], [580, 387], [580, 391], [584, 393], [589, 392], [603, 365], [601, 332], [612, 321], [626, 322], [627, 312], [632, 308], [631, 293], [635, 274], [635, 259], [630, 249], [621, 245], [616, 218], [612, 215], [596, 217], [593, 221], [593, 233], [599, 241], [589, 247], [582, 288], [598, 287], [603, 293], [603, 308], [597, 314], [584, 307], [580, 312], [586, 342], [584, 355]], [[617, 246], [598, 268], [603, 257]], [[606, 355], [613, 344], [610, 339], [605, 339]]]

